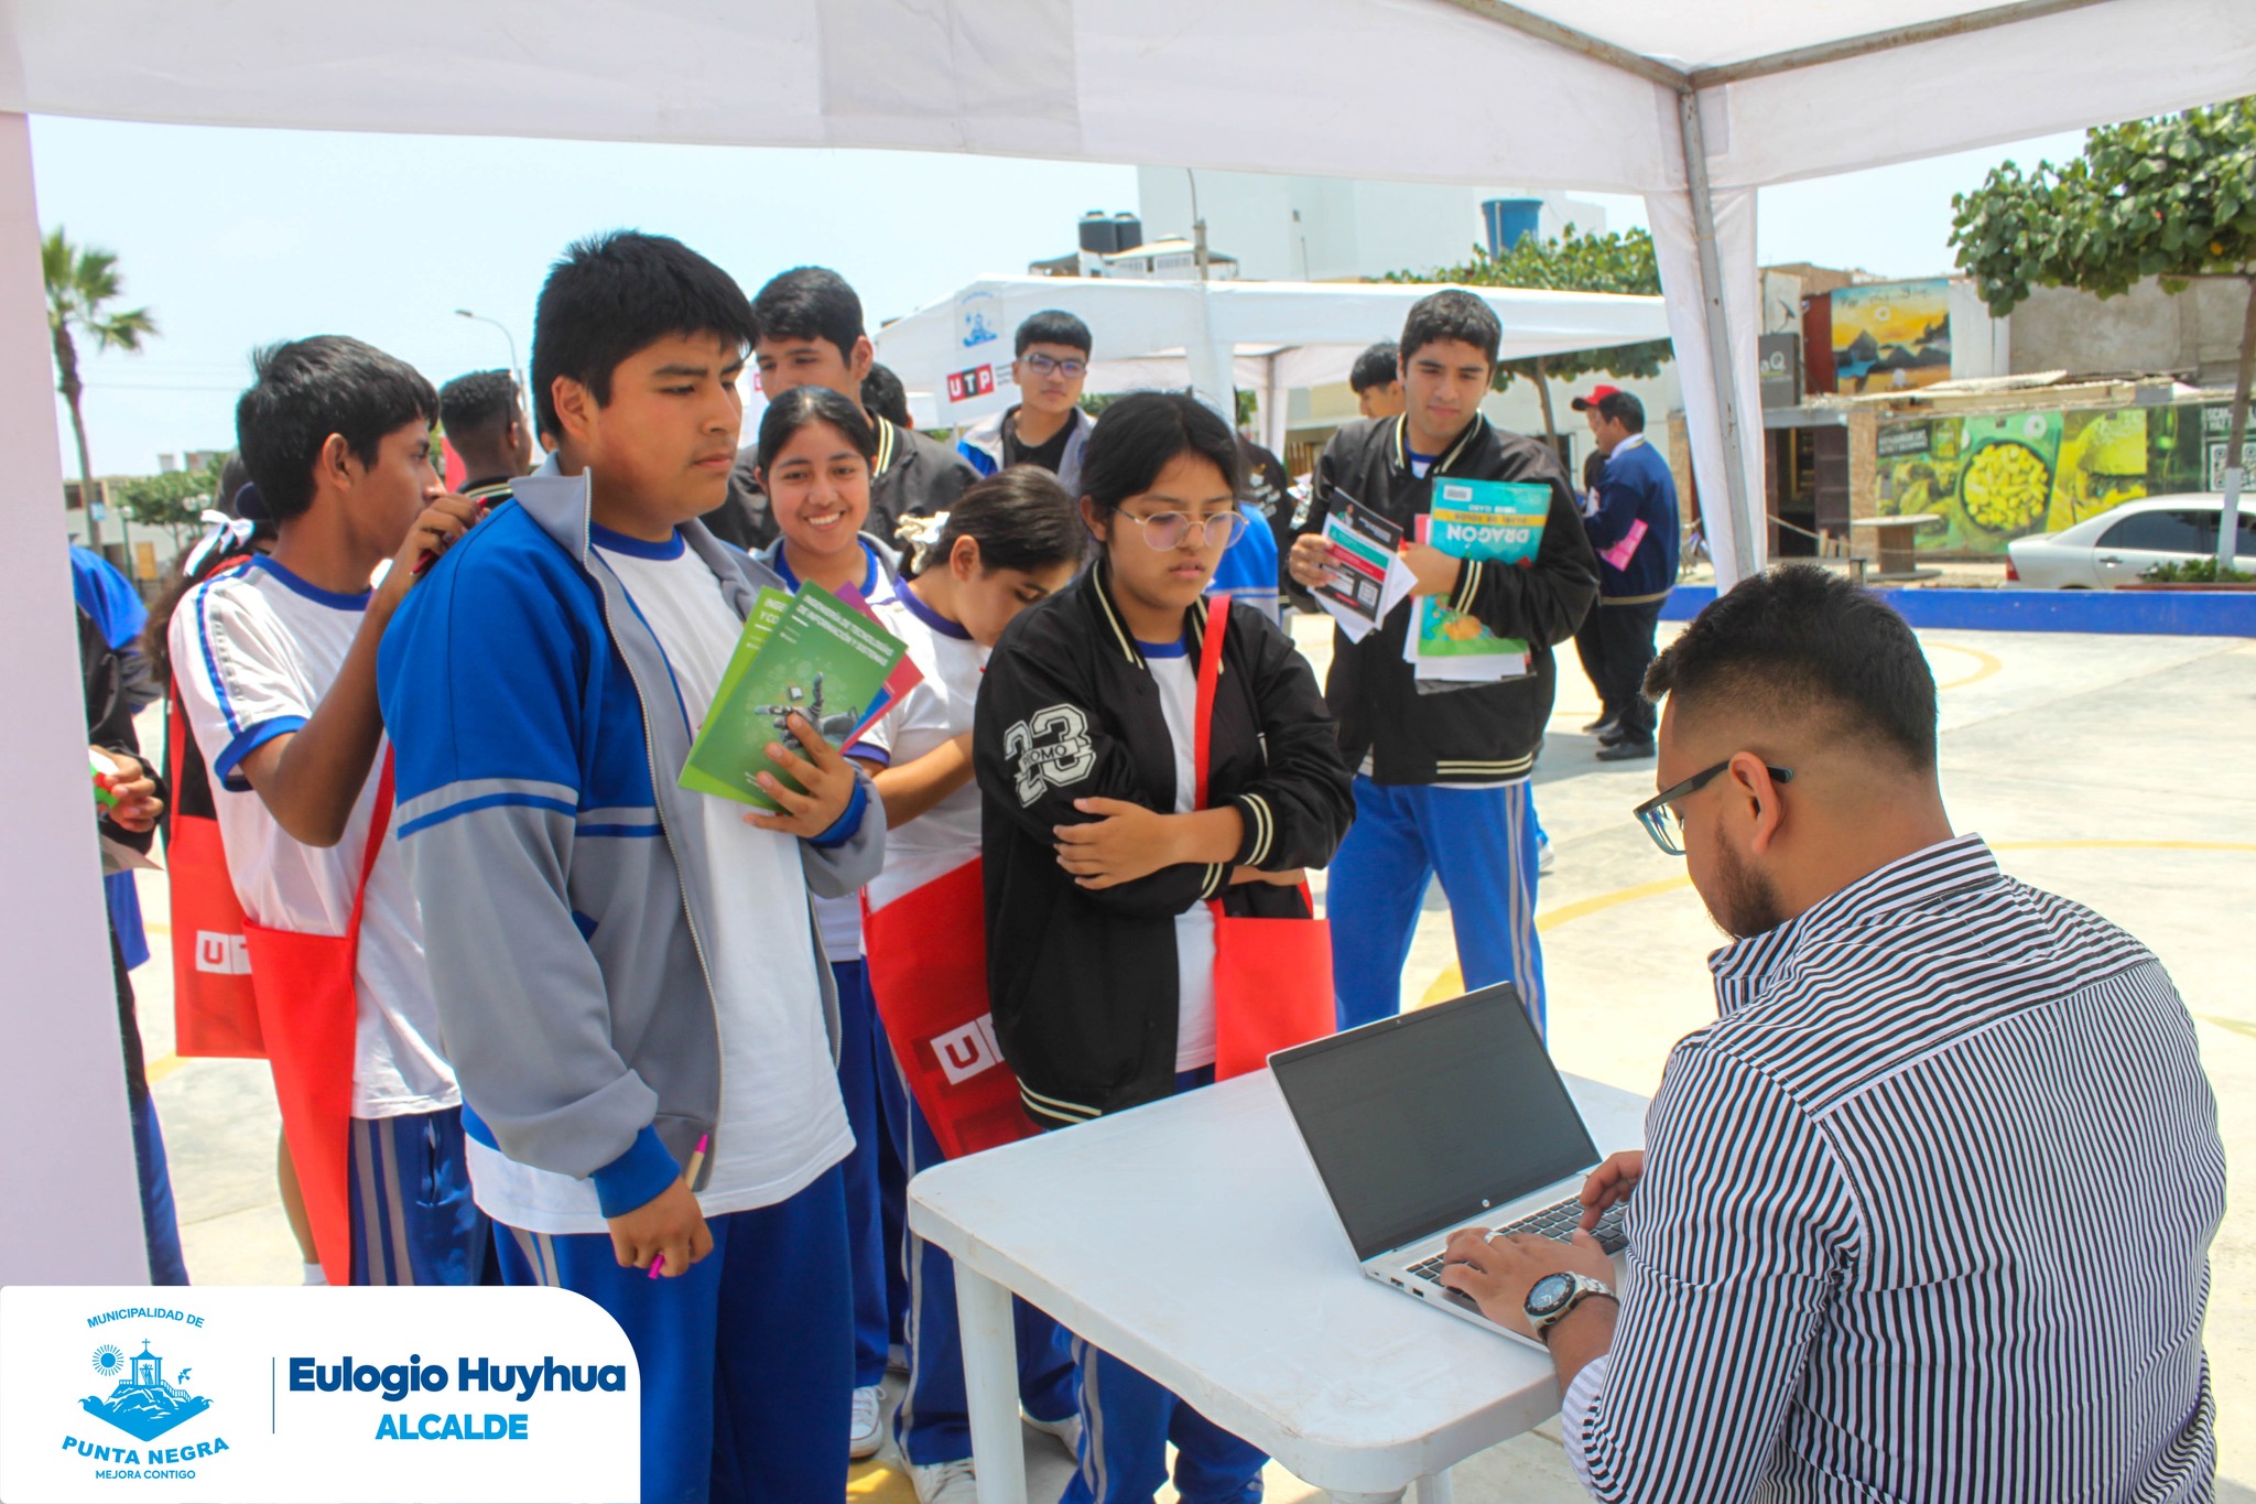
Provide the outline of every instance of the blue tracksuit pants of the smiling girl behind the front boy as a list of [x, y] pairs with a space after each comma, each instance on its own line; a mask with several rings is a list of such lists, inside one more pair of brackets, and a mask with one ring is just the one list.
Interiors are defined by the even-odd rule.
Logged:
[[869, 1389], [884, 1382], [884, 1351], [893, 1342], [889, 1249], [900, 1247], [909, 1177], [900, 1143], [907, 1136], [907, 1103], [893, 1046], [884, 1037], [878, 1006], [869, 997], [869, 974], [860, 961], [832, 961], [839, 988], [839, 1096], [853, 1125], [846, 1175], [846, 1265], [853, 1281], [853, 1382]]

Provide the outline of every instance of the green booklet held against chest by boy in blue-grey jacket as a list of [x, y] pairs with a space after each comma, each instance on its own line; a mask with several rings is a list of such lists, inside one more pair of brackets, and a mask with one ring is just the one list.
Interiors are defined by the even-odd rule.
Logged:
[[681, 787], [776, 809], [756, 780], [774, 773], [799, 789], [767, 755], [769, 742], [799, 751], [787, 717], [803, 715], [839, 746], [884, 692], [902, 652], [900, 638], [821, 586], [801, 586], [799, 595], [760, 591], [681, 767]]

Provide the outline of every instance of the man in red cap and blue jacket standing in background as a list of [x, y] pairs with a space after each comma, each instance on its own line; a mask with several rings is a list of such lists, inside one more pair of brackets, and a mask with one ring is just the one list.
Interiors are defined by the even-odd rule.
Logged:
[[1606, 469], [1597, 510], [1581, 519], [1597, 552], [1597, 607], [1575, 631], [1581, 670], [1600, 699], [1597, 760], [1654, 755], [1654, 706], [1645, 699], [1645, 665], [1654, 661], [1654, 625], [1676, 584], [1676, 478], [1645, 442], [1645, 404], [1600, 386], [1575, 399]]

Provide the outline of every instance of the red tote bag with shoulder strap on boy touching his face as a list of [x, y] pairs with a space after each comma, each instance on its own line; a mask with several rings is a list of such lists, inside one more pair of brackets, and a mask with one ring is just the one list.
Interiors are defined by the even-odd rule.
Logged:
[[361, 886], [341, 936], [307, 936], [244, 920], [250, 979], [259, 997], [259, 1030], [275, 1071], [282, 1136], [289, 1139], [314, 1249], [332, 1285], [352, 1283], [352, 1058], [361, 994], [361, 906], [393, 821], [393, 755], [384, 753], [377, 807], [368, 819]]

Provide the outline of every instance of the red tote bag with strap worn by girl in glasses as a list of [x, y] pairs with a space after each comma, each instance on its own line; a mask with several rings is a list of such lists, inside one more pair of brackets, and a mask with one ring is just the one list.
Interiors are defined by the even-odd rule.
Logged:
[[[1207, 742], [1214, 690], [1223, 676], [1230, 602], [1207, 611], [1198, 654], [1198, 807], [1207, 807]], [[1338, 1028], [1331, 999], [1331, 924], [1318, 920], [1308, 884], [1299, 886], [1306, 920], [1234, 918], [1220, 900], [1214, 913], [1214, 1078], [1230, 1080], [1268, 1067], [1275, 1051], [1322, 1039]]]

